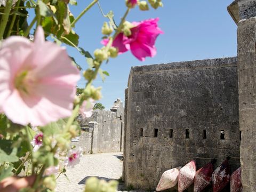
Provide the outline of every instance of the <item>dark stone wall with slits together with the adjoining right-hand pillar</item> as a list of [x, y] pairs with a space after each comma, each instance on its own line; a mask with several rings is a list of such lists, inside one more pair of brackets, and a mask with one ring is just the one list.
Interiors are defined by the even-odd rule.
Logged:
[[198, 168], [210, 158], [217, 158], [216, 167], [230, 156], [231, 171], [241, 166], [243, 191], [256, 191], [256, 1], [236, 0], [228, 12], [238, 25], [237, 58], [131, 69], [126, 185], [155, 188], [164, 171], [196, 156]]

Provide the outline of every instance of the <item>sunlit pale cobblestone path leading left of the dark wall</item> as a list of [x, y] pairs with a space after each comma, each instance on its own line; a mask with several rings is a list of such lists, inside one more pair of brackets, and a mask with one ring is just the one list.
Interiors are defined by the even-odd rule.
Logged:
[[[122, 153], [105, 153], [83, 155], [79, 164], [67, 169], [67, 176], [60, 175], [57, 180], [57, 192], [82, 192], [88, 177], [96, 176], [101, 179], [119, 179], [122, 175], [123, 162], [120, 160]], [[118, 190], [122, 190], [119, 186]]]

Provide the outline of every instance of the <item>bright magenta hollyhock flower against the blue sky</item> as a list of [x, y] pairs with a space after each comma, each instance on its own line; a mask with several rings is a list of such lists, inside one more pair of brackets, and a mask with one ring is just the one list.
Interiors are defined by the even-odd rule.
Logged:
[[[123, 33], [117, 35], [113, 41], [113, 46], [117, 47], [119, 53], [131, 50], [132, 54], [139, 60], [144, 61], [146, 57], [156, 55], [155, 41], [163, 31], [157, 26], [158, 18], [141, 22], [132, 22], [131, 35], [126, 37]], [[106, 45], [108, 39], [102, 41]]]

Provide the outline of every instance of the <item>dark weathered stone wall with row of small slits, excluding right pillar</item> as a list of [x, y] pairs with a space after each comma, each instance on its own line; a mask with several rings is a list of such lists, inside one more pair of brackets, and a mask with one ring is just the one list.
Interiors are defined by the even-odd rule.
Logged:
[[[126, 185], [155, 188], [197, 154], [216, 166], [239, 158], [237, 58], [133, 67], [125, 114]], [[197, 167], [209, 161], [198, 158]]]

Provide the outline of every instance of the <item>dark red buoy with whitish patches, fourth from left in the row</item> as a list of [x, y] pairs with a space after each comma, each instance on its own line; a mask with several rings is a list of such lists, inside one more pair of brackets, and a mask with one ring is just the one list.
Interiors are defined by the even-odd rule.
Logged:
[[220, 192], [230, 180], [230, 165], [228, 160], [224, 161], [212, 174], [213, 192]]

